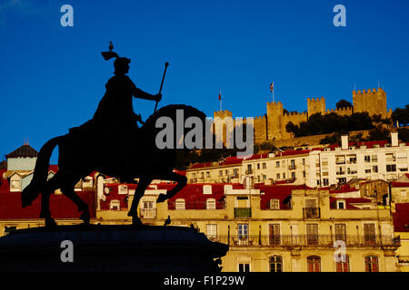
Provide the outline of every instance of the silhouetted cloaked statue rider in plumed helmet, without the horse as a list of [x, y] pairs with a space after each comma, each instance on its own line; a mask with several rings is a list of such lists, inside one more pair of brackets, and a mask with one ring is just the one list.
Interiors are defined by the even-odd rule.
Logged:
[[[133, 110], [132, 97], [159, 102], [162, 95], [152, 95], [135, 86], [135, 83], [126, 75], [129, 71], [130, 59], [119, 57], [112, 51], [102, 54], [105, 60], [116, 58], [114, 62], [115, 76], [106, 82], [106, 92], [98, 104], [94, 118], [70, 131], [85, 129], [82, 131], [83, 133], [89, 134], [91, 132], [91, 135], [94, 135], [91, 138], [100, 140], [99, 143], [102, 145], [93, 149], [98, 150], [96, 156], [105, 156], [110, 160], [114, 158], [115, 162], [119, 161], [121, 169], [126, 173], [131, 166], [128, 164], [128, 153], [137, 150], [135, 147], [133, 148], [138, 143], [133, 141], [138, 140], [139, 128], [136, 121], [143, 122], [141, 115], [136, 115]], [[121, 137], [120, 140], [110, 138], [113, 132]]]

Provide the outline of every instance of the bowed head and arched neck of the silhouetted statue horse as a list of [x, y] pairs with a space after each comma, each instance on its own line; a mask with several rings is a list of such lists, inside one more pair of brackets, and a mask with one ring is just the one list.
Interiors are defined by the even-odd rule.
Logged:
[[194, 150], [205, 146], [206, 116], [194, 107], [175, 104], [155, 112], [142, 127], [158, 150]]

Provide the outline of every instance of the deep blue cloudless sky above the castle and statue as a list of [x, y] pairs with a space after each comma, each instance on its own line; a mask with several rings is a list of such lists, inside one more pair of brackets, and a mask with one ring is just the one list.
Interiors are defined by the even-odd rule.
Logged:
[[[114, 5], [115, 3], [115, 5]], [[60, 7], [74, 7], [62, 27]], [[333, 7], [346, 7], [334, 27]], [[409, 1], [45, 1], [0, 0], [0, 155], [46, 140], [92, 118], [113, 75], [101, 51], [109, 41], [132, 59], [136, 86], [156, 93], [169, 62], [163, 101], [208, 116], [260, 116], [275, 100], [306, 111], [308, 97], [326, 107], [356, 89], [377, 87], [388, 108], [408, 102]], [[135, 100], [147, 117], [155, 102]], [[120, 141], [120, 136], [117, 136]]]

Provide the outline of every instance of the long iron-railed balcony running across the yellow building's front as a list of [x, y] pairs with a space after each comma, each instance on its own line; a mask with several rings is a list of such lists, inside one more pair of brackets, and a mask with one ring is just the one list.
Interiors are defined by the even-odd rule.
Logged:
[[210, 236], [211, 241], [231, 247], [334, 247], [336, 240], [342, 240], [345, 247], [392, 247], [401, 246], [400, 237], [390, 236], [344, 236], [335, 239], [334, 235], [241, 235]]

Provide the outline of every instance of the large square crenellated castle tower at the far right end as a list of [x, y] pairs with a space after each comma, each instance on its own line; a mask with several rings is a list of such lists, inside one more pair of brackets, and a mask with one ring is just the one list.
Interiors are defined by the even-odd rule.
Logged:
[[367, 111], [370, 116], [390, 117], [386, 109], [386, 92], [382, 88], [353, 91], [354, 112]]

